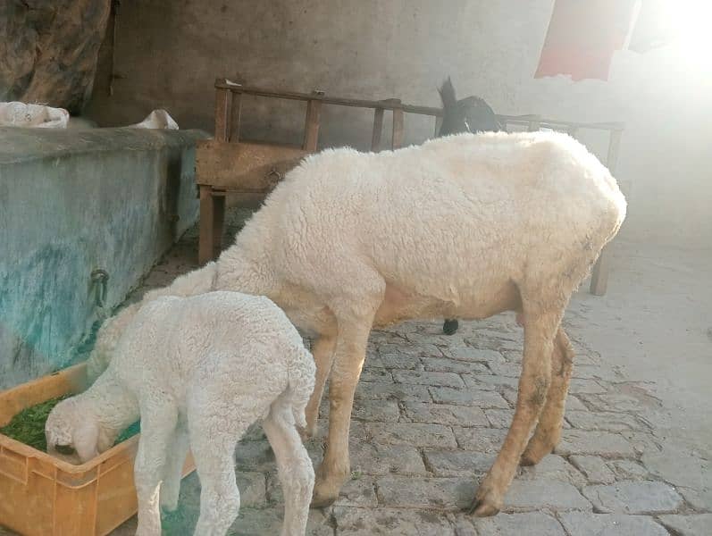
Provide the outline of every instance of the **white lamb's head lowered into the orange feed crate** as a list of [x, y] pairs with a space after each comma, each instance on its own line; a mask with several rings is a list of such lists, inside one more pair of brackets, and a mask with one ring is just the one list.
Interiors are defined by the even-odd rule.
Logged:
[[71, 463], [86, 463], [112, 447], [118, 431], [99, 423], [81, 395], [54, 406], [45, 423], [47, 452]]

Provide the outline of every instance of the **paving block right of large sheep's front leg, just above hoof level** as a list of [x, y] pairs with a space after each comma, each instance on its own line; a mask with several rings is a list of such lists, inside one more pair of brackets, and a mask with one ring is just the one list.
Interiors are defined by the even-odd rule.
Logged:
[[364, 474], [427, 474], [418, 449], [406, 445], [380, 445], [353, 441], [349, 445], [352, 471]]

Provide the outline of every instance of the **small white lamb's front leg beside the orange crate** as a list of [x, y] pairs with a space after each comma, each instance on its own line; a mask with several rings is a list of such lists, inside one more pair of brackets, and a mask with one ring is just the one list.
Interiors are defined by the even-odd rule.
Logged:
[[[155, 401], [152, 401], [155, 402]], [[161, 534], [159, 489], [163, 480], [166, 453], [178, 422], [172, 404], [141, 406], [141, 435], [134, 463], [134, 482], [138, 498], [137, 536]]]

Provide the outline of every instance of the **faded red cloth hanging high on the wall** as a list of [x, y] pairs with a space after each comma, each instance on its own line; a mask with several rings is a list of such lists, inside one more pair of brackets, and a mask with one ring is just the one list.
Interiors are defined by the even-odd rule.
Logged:
[[636, 0], [556, 0], [534, 78], [608, 80], [631, 26]]

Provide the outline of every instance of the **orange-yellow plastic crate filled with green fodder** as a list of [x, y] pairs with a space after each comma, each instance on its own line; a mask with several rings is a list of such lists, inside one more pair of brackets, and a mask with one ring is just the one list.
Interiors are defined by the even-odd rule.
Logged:
[[[0, 393], [0, 426], [22, 409], [77, 393], [84, 364]], [[83, 465], [71, 465], [0, 434], [0, 525], [26, 536], [103, 536], [136, 514], [138, 435]], [[188, 454], [183, 476], [195, 469]]]

